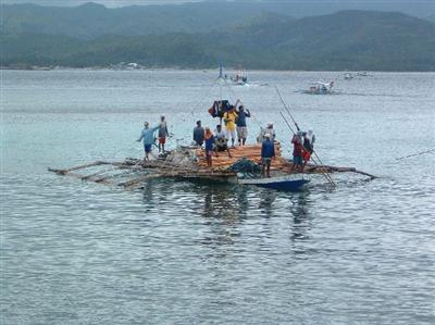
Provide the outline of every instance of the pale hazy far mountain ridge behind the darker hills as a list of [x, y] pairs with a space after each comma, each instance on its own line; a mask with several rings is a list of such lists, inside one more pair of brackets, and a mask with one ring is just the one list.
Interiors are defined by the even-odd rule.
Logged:
[[[51, 0], [49, 2], [55, 3]], [[65, 1], [63, 1], [65, 2]], [[78, 7], [2, 4], [4, 33], [41, 33], [91, 39], [107, 34], [138, 36], [204, 33], [239, 25], [264, 13], [301, 18], [343, 10], [395, 11], [433, 20], [435, 2], [408, 1], [204, 1], [184, 4], [133, 5], [109, 9], [88, 2]]]

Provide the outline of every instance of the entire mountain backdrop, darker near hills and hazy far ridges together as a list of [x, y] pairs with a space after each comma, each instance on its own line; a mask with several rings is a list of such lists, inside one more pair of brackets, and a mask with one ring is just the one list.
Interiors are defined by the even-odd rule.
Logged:
[[428, 20], [375, 11], [295, 18], [246, 2], [234, 5], [244, 9], [156, 5], [149, 16], [145, 7], [4, 5], [2, 65], [123, 61], [199, 68], [222, 60], [247, 68], [435, 71], [435, 24]]

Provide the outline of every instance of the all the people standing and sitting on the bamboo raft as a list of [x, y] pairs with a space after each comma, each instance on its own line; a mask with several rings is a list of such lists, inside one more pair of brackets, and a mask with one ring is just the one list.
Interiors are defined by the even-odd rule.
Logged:
[[[220, 109], [223, 104], [227, 108], [222, 112]], [[249, 110], [245, 110], [240, 101], [237, 100], [236, 104], [229, 105], [227, 101], [215, 101], [213, 107], [209, 110], [213, 117], [219, 116], [221, 124], [216, 125], [214, 133], [210, 127], [202, 127], [201, 121], [197, 121], [197, 126], [194, 128], [194, 143], [197, 147], [204, 145], [206, 160], [208, 166], [212, 166], [212, 154], [213, 152], [217, 155], [217, 151], [226, 151], [231, 158], [231, 151], [228, 147], [228, 140], [232, 141], [231, 148], [235, 148], [235, 141], [237, 136], [238, 146], [245, 146], [248, 137], [248, 127], [246, 123], [247, 117], [251, 117]], [[225, 124], [225, 130], [222, 128], [222, 120]], [[158, 138], [154, 137], [154, 133], [158, 130]], [[149, 154], [152, 151], [152, 146], [156, 146], [156, 140], [159, 140], [159, 152], [164, 153], [164, 145], [166, 138], [170, 136], [167, 130], [167, 124], [165, 116], [160, 117], [160, 123], [156, 127], [150, 127], [148, 122], [144, 123], [144, 129], [141, 130], [139, 139], [137, 141], [144, 141], [145, 160], [149, 160]], [[260, 135], [257, 137], [257, 141], [261, 142], [261, 160], [262, 160], [262, 175], [265, 177], [270, 176], [270, 168], [272, 159], [275, 157], [275, 130], [272, 123], [268, 123], [265, 128], [261, 128]], [[302, 172], [304, 165], [311, 158], [314, 150], [315, 136], [312, 130], [298, 132], [293, 136], [291, 143], [294, 146], [293, 151], [293, 171]]]

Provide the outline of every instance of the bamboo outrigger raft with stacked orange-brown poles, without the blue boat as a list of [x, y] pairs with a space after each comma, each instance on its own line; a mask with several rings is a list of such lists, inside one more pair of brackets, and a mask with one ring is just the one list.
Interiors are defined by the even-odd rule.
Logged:
[[[276, 175], [293, 174], [293, 163], [282, 157], [279, 143], [275, 143], [275, 159], [272, 162], [272, 171]], [[95, 161], [91, 163], [73, 166], [70, 168], [48, 168], [62, 176], [71, 176], [83, 182], [94, 182], [109, 186], [119, 186], [126, 189], [140, 188], [141, 185], [152, 178], [173, 178], [188, 180], [207, 180], [237, 183], [237, 173], [229, 167], [245, 158], [254, 163], [261, 161], [261, 146], [251, 145], [229, 149], [213, 155], [213, 166], [208, 167], [203, 149], [181, 147], [167, 157], [153, 161], [139, 159], [125, 159], [121, 162]], [[83, 173], [86, 172], [86, 173]], [[375, 176], [360, 172], [352, 167], [336, 167], [327, 165], [308, 164], [303, 174], [325, 173], [358, 173], [370, 179]]]

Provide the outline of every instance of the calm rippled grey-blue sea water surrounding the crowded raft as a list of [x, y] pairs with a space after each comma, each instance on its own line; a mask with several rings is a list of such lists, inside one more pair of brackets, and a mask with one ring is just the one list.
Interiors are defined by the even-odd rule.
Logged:
[[[1, 71], [1, 324], [434, 324], [435, 74]], [[337, 78], [338, 77], [338, 78]], [[336, 79], [335, 96], [298, 92]], [[123, 191], [47, 172], [141, 157], [165, 114], [190, 142], [215, 97], [241, 98], [249, 138], [274, 87], [335, 176], [306, 191], [150, 180]]]

